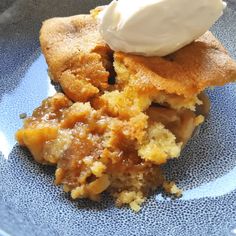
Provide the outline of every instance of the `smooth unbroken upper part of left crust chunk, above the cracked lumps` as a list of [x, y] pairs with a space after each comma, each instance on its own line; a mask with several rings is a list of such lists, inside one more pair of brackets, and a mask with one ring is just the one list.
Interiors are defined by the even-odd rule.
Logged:
[[70, 66], [74, 56], [89, 54], [100, 47], [107, 48], [97, 27], [96, 20], [90, 15], [52, 18], [43, 22], [41, 48], [55, 80]]

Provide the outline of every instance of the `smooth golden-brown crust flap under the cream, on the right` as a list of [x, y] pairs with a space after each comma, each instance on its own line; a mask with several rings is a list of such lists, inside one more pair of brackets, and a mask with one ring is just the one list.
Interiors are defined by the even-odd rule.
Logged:
[[115, 53], [137, 78], [134, 86], [145, 91], [164, 90], [192, 97], [209, 86], [236, 80], [236, 63], [211, 32], [167, 57]]

